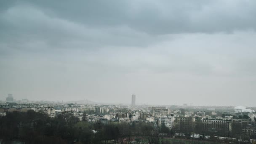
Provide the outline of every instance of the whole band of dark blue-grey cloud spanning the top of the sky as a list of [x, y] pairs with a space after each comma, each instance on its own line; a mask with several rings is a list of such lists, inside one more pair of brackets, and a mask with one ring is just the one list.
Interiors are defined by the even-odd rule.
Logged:
[[[147, 47], [166, 34], [256, 28], [253, 0], [8, 0], [0, 2], [1, 41], [29, 48]], [[26, 44], [24, 44], [24, 41]]]

